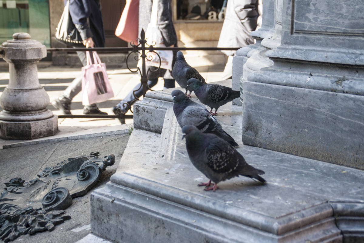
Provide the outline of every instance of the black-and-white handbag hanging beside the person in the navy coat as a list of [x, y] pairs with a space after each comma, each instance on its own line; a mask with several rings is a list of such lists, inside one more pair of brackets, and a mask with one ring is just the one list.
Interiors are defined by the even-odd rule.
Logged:
[[55, 37], [56, 40], [66, 44], [67, 46], [85, 47], [83, 45], [80, 33], [72, 22], [70, 15], [70, 0], [68, 0], [66, 6], [64, 6], [61, 19], [59, 20], [58, 26], [56, 28]]

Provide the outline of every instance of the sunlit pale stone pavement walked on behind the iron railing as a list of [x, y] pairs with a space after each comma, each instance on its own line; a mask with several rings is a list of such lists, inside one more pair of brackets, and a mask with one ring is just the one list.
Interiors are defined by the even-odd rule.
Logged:
[[[207, 82], [218, 81], [222, 75], [223, 66], [200, 66], [196, 67], [197, 70], [206, 78]], [[138, 83], [140, 78], [138, 74], [130, 72], [124, 64], [121, 68], [108, 69], [108, 77], [114, 91], [114, 98], [108, 101], [99, 103], [100, 110], [112, 114], [111, 107], [116, 105], [123, 97]], [[50, 96], [50, 101], [53, 101], [59, 95], [62, 94], [63, 90], [72, 82], [75, 77], [81, 74], [80, 67], [66, 67], [66, 66], [51, 66], [49, 62], [40, 62], [38, 65], [38, 78], [40, 84], [47, 91]], [[9, 72], [8, 65], [5, 62], [0, 62], [0, 95], [8, 84]], [[178, 85], [176, 83], [176, 85]], [[160, 80], [157, 85], [153, 87], [153, 90], [163, 89], [163, 80]], [[53, 106], [47, 107], [55, 115], [62, 114], [59, 110], [56, 110]], [[72, 114], [78, 115], [83, 114], [82, 96], [81, 92], [75, 96], [71, 104]], [[2, 108], [0, 107], [0, 111]], [[132, 114], [130, 111], [127, 114]], [[132, 124], [132, 119], [126, 119], [126, 124]], [[56, 136], [47, 137], [44, 139], [58, 138], [58, 137], [69, 137], [73, 136], [76, 132], [81, 132], [87, 129], [93, 129], [90, 133], [97, 132], [97, 129], [102, 128], [101, 132], [104, 131], [105, 126], [117, 126], [120, 125], [118, 119], [97, 119], [97, 118], [64, 118], [58, 119], [59, 133]], [[130, 125], [131, 126], [131, 125]], [[112, 128], [109, 128], [112, 130]], [[88, 132], [86, 132], [88, 133]], [[82, 134], [85, 134], [83, 132]], [[78, 133], [76, 134], [78, 135]], [[43, 141], [43, 138], [37, 139], [36, 141]], [[17, 140], [4, 141], [0, 139], [0, 149], [5, 144], [21, 142]]]

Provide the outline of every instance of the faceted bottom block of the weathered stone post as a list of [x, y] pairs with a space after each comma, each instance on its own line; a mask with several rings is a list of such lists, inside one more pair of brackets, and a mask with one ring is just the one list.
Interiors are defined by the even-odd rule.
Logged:
[[3, 121], [0, 120], [0, 137], [3, 139], [35, 139], [53, 136], [58, 132], [58, 116], [39, 121]]

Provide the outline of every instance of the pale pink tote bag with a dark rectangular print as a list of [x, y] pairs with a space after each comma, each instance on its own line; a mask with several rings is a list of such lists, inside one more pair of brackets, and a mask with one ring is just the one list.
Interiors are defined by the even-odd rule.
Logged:
[[92, 64], [90, 51], [86, 51], [87, 65], [82, 67], [82, 105], [91, 105], [114, 97], [105, 63], [101, 63], [96, 51], [92, 51], [92, 56], [95, 64]]

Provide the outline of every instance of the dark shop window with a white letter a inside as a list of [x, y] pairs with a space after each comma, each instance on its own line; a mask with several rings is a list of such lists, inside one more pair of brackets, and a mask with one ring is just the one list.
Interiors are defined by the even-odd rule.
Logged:
[[174, 20], [223, 21], [227, 0], [174, 0]]

